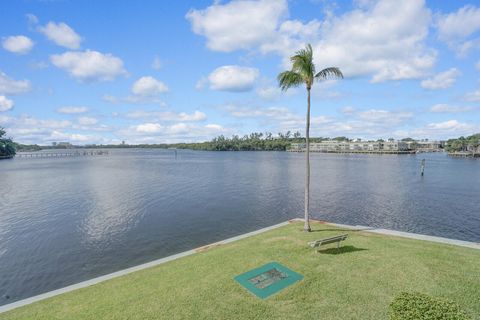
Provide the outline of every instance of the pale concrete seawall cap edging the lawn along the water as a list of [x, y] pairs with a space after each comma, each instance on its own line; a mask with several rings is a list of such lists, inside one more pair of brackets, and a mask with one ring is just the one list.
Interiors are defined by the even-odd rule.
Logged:
[[[262, 228], [259, 230], [255, 230], [252, 232], [244, 233], [232, 238], [227, 238], [225, 240], [221, 240], [218, 242], [214, 242], [212, 244], [208, 244], [199, 248], [191, 249], [188, 251], [180, 252], [171, 256], [167, 256], [164, 258], [160, 258], [154, 261], [150, 261], [144, 264], [140, 264], [137, 266], [133, 266], [127, 269], [119, 270], [110, 274], [106, 274], [103, 276], [95, 277], [89, 280], [85, 280], [76, 284], [72, 284], [63, 288], [55, 289], [52, 291], [48, 291], [45, 293], [41, 293], [39, 295], [35, 295], [26, 299], [18, 300], [9, 304], [5, 304], [0, 306], [0, 313], [7, 312], [22, 306], [26, 306], [29, 304], [32, 304], [34, 302], [38, 302], [41, 300], [45, 300], [50, 297], [58, 296], [63, 293], [71, 292], [77, 289], [81, 288], [86, 288], [89, 286], [92, 286], [97, 283], [101, 283], [110, 279], [118, 278], [136, 271], [148, 269], [160, 264], [164, 264], [169, 261], [173, 261], [182, 257], [190, 256], [195, 253], [199, 253], [211, 248], [215, 248], [224, 244], [228, 244], [231, 242], [235, 242], [237, 240], [241, 240], [244, 238], [248, 238], [257, 234], [261, 234], [270, 230], [277, 229], [282, 226], [286, 226], [290, 223], [295, 223], [303, 221], [301, 218], [293, 218], [291, 220], [287, 220], [275, 225], [272, 225], [270, 227]], [[422, 240], [422, 241], [429, 241], [429, 242], [435, 242], [435, 243], [441, 243], [441, 244], [447, 244], [447, 245], [454, 245], [454, 246], [461, 246], [461, 247], [466, 247], [466, 248], [471, 248], [471, 249], [477, 249], [480, 250], [480, 243], [477, 242], [469, 242], [469, 241], [463, 241], [463, 240], [456, 240], [456, 239], [449, 239], [449, 238], [443, 238], [443, 237], [436, 237], [436, 236], [428, 236], [428, 235], [422, 235], [422, 234], [416, 234], [416, 233], [410, 233], [410, 232], [403, 232], [403, 231], [396, 231], [396, 230], [390, 230], [390, 229], [382, 229], [382, 228], [372, 228], [372, 227], [366, 227], [366, 226], [352, 226], [352, 225], [345, 225], [345, 224], [337, 224], [337, 223], [329, 223], [325, 221], [319, 221], [319, 220], [311, 220], [314, 223], [321, 223], [321, 224], [326, 224], [326, 225], [331, 225], [334, 227], [339, 227], [339, 228], [346, 228], [350, 229], [352, 231], [363, 231], [363, 232], [371, 232], [371, 233], [376, 233], [376, 234], [382, 234], [382, 235], [388, 235], [388, 236], [394, 236], [394, 237], [402, 237], [402, 238], [408, 238], [408, 239], [414, 239], [414, 240]]]

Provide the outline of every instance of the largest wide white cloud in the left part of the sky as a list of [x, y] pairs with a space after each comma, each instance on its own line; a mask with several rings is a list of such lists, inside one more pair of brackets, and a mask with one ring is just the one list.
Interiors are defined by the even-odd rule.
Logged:
[[109, 81], [127, 73], [120, 58], [98, 51], [54, 54], [50, 56], [50, 61], [80, 81]]

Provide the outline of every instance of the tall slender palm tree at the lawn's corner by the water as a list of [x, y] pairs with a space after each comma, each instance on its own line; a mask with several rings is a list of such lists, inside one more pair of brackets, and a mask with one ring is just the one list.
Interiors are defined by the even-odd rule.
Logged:
[[307, 44], [305, 49], [299, 50], [290, 58], [292, 70], [284, 71], [278, 75], [278, 83], [282, 91], [287, 91], [290, 87], [298, 87], [305, 84], [308, 94], [307, 107], [307, 125], [306, 125], [306, 153], [305, 153], [305, 225], [304, 231], [311, 231], [309, 222], [310, 206], [310, 90], [315, 80], [327, 80], [334, 78], [343, 78], [339, 68], [330, 67], [316, 73], [313, 63], [312, 46]]

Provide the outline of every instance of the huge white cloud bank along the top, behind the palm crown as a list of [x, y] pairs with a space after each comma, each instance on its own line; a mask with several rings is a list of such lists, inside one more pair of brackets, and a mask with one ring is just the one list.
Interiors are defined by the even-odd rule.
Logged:
[[354, 5], [342, 15], [328, 14], [322, 22], [286, 20], [287, 3], [266, 0], [215, 3], [191, 10], [187, 19], [212, 50], [273, 52], [283, 57], [286, 68], [293, 52], [309, 42], [319, 67], [337, 66], [347, 77], [371, 76], [373, 82], [382, 82], [428, 73], [436, 51], [425, 45], [431, 13], [423, 0]]

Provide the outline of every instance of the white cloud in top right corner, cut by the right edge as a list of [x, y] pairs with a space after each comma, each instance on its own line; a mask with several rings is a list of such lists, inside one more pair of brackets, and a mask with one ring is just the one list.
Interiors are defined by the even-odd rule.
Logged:
[[466, 5], [456, 12], [440, 15], [436, 24], [441, 40], [446, 42], [463, 40], [480, 30], [480, 8]]

